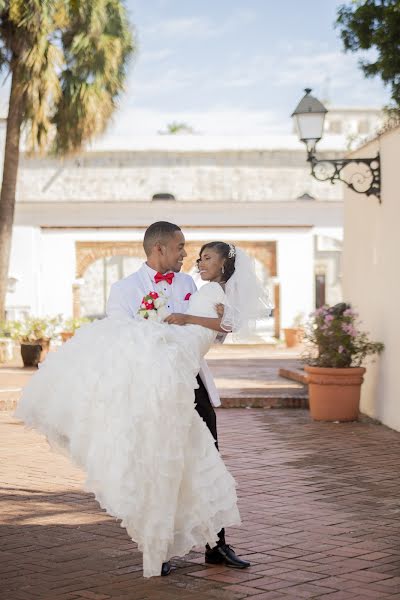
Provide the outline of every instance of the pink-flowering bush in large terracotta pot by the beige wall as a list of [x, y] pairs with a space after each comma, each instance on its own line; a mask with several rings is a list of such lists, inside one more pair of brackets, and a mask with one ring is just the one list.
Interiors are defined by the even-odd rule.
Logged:
[[322, 306], [312, 313], [305, 340], [310, 413], [316, 421], [358, 418], [364, 359], [380, 354], [384, 345], [371, 342], [358, 329], [358, 314], [350, 304]]

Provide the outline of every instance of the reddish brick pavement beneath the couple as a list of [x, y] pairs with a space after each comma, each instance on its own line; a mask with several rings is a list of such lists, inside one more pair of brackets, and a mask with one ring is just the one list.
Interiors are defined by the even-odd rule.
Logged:
[[220, 409], [223, 456], [252, 567], [206, 567], [201, 549], [144, 580], [118, 522], [79, 470], [0, 415], [1, 600], [380, 600], [400, 598], [400, 434], [324, 424], [304, 410]]

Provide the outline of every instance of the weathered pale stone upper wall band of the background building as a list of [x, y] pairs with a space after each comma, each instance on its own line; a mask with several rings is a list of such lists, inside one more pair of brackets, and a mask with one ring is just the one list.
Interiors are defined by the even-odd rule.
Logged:
[[340, 186], [310, 177], [305, 151], [135, 151], [20, 162], [17, 201], [151, 202], [170, 193], [182, 202], [295, 200], [304, 193], [341, 200]]

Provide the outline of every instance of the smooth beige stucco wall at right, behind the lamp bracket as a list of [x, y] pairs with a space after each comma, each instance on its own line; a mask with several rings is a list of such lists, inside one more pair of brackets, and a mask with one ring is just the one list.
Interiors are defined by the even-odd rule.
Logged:
[[400, 127], [353, 156], [381, 154], [382, 204], [374, 196], [345, 191], [344, 298], [363, 327], [385, 343], [368, 363], [361, 410], [400, 431]]

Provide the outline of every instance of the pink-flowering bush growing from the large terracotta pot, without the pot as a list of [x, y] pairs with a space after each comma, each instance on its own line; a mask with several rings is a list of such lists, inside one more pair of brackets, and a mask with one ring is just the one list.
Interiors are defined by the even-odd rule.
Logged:
[[360, 367], [367, 356], [380, 354], [384, 345], [371, 342], [360, 331], [358, 314], [350, 304], [321, 306], [311, 314], [305, 341], [304, 361], [314, 367]]

